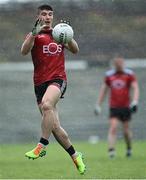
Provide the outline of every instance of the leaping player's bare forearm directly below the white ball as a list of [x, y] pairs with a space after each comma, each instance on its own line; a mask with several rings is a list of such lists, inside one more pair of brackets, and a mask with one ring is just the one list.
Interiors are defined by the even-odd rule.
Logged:
[[73, 54], [76, 54], [79, 52], [79, 46], [74, 39], [72, 39], [68, 44], [66, 44], [65, 47]]

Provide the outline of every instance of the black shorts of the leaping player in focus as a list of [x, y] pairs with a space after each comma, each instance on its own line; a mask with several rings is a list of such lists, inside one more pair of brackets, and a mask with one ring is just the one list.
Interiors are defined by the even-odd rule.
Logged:
[[36, 95], [38, 104], [41, 103], [42, 98], [43, 98], [48, 86], [50, 86], [52, 84], [57, 86], [60, 89], [60, 91], [61, 91], [60, 98], [64, 98], [64, 94], [65, 94], [65, 91], [67, 88], [67, 82], [62, 79], [54, 79], [54, 80], [44, 82], [39, 86], [34, 86], [35, 95]]

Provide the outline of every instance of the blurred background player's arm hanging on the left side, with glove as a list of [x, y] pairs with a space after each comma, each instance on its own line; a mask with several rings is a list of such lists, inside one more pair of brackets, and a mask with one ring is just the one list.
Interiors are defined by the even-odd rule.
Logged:
[[97, 100], [97, 104], [96, 104], [96, 107], [95, 107], [95, 114], [98, 115], [101, 113], [101, 105], [102, 105], [102, 102], [104, 101], [104, 98], [107, 94], [107, 91], [108, 91], [108, 86], [104, 83], [102, 84], [101, 88], [100, 88], [100, 91], [99, 91], [99, 97], [98, 97], [98, 100]]

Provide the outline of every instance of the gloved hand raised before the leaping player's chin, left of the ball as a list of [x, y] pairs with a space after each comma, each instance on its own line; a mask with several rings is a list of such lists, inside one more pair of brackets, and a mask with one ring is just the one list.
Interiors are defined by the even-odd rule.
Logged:
[[37, 21], [35, 22], [35, 25], [32, 29], [32, 35], [36, 36], [37, 34], [39, 34], [39, 32], [46, 27], [44, 20], [43, 19], [37, 19]]

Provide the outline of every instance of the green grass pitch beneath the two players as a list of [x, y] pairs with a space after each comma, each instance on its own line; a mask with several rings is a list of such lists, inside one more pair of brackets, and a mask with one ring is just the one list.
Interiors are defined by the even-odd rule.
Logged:
[[99, 178], [146, 178], [146, 142], [133, 144], [133, 157], [125, 157], [125, 145], [117, 144], [117, 156], [109, 159], [107, 143], [96, 145], [75, 143], [77, 150], [84, 153], [87, 171], [78, 174], [66, 152], [58, 144], [50, 144], [46, 157], [28, 160], [24, 153], [34, 145], [1, 145], [1, 179], [99, 179]]

